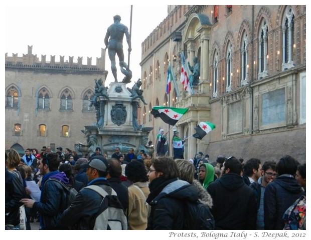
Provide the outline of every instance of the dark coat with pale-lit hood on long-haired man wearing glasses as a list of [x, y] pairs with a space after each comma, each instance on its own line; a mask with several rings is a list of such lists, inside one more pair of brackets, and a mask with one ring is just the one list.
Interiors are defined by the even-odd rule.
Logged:
[[[150, 187], [151, 186], [151, 187]], [[151, 206], [148, 217], [148, 230], [183, 230], [184, 201], [196, 202], [199, 189], [177, 178], [163, 180], [158, 177], [149, 184], [150, 194], [147, 202]]]

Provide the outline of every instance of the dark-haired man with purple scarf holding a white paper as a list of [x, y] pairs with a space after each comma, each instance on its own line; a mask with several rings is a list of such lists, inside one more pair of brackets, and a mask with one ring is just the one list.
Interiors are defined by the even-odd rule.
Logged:
[[68, 206], [68, 191], [61, 182], [66, 185], [69, 183], [69, 179], [64, 172], [59, 172], [59, 164], [58, 153], [46, 154], [39, 164], [40, 172], [43, 175], [40, 201], [34, 201], [30, 198], [22, 199], [25, 206], [34, 208], [34, 211], [39, 212], [40, 229], [68, 229], [68, 227], [60, 224], [59, 219]]

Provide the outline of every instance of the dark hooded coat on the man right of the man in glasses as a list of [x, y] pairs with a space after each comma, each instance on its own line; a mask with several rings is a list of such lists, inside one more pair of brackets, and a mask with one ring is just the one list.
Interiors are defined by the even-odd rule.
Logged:
[[280, 175], [264, 191], [264, 228], [282, 230], [286, 209], [305, 192], [293, 176]]

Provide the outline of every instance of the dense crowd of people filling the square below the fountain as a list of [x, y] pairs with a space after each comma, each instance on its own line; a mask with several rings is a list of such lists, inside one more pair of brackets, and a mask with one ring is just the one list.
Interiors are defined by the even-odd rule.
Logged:
[[[175, 137], [183, 144], [178, 134]], [[28, 148], [24, 156], [10, 148], [6, 149], [6, 229], [19, 229], [22, 205], [26, 229], [34, 220], [40, 222], [40, 229], [94, 229], [103, 196], [93, 186], [116, 195], [126, 229], [187, 229], [185, 202], [208, 206], [213, 229], [224, 230], [291, 229], [289, 209], [296, 204], [300, 208], [295, 227], [305, 229], [305, 172], [305, 163], [289, 155], [277, 162], [222, 155], [212, 161], [201, 151], [187, 160], [152, 156], [144, 150], [135, 155], [133, 148], [122, 154], [119, 147], [110, 158], [101, 154], [100, 147], [86, 157], [69, 148], [63, 152], [62, 147], [56, 152], [51, 147], [41, 152]], [[38, 184], [40, 199], [32, 198], [27, 181]], [[60, 182], [77, 192], [69, 205]]]

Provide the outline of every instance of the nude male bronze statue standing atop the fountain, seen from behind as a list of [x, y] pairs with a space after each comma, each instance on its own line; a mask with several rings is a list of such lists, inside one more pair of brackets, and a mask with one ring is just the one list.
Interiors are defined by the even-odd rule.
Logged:
[[113, 23], [108, 27], [107, 33], [105, 36], [105, 45], [108, 48], [109, 59], [111, 61], [111, 71], [114, 77], [114, 82], [117, 82], [117, 68], [115, 64], [115, 54], [118, 55], [119, 65], [124, 68], [127, 67], [124, 62], [124, 53], [123, 53], [123, 36], [125, 34], [126, 41], [128, 44], [128, 52], [131, 52], [131, 41], [128, 33], [128, 28], [124, 24], [120, 23], [121, 17], [119, 15], [115, 15], [113, 17]]

